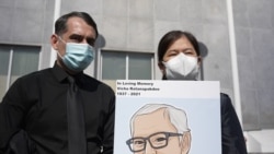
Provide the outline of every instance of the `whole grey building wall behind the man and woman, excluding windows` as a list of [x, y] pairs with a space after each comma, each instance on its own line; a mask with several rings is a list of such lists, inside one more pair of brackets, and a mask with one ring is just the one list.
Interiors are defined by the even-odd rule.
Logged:
[[[274, 1], [233, 0], [243, 129], [274, 128]], [[39, 69], [50, 67], [55, 1], [1, 0], [0, 44], [42, 46]], [[98, 23], [102, 49], [156, 52], [170, 29], [192, 32], [205, 45], [203, 80], [220, 81], [233, 99], [226, 1], [62, 0], [60, 14], [85, 11]], [[156, 79], [161, 79], [157, 68]], [[94, 74], [92, 66], [90, 74]]]

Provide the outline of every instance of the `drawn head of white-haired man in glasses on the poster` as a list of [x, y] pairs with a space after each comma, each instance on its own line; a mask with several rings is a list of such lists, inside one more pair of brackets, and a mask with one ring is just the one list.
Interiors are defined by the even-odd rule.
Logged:
[[187, 154], [191, 147], [185, 111], [165, 104], [148, 104], [136, 111], [130, 133], [126, 143], [135, 154]]

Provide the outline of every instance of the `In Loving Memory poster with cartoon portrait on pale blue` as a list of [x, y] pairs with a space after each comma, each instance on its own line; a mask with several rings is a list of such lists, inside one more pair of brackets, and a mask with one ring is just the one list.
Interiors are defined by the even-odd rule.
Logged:
[[220, 154], [217, 81], [117, 80], [114, 154]]

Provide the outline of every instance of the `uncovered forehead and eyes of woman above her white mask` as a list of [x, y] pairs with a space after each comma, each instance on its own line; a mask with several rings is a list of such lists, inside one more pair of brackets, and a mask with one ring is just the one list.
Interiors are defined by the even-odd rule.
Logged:
[[163, 55], [163, 61], [167, 62], [170, 59], [178, 56], [180, 52], [185, 56], [198, 57], [191, 42], [185, 37], [181, 37], [175, 40]]

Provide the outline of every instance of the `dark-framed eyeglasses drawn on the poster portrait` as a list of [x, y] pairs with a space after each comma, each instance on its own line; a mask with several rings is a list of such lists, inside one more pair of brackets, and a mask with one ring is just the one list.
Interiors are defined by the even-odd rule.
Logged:
[[170, 137], [179, 137], [179, 135], [183, 134], [174, 132], [156, 132], [147, 138], [141, 138], [141, 137], [132, 138], [126, 141], [126, 144], [128, 145], [132, 152], [140, 152], [146, 149], [147, 145], [146, 141], [148, 140], [151, 147], [162, 149], [168, 145]]

